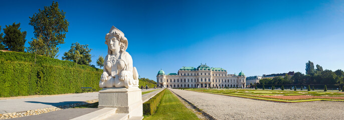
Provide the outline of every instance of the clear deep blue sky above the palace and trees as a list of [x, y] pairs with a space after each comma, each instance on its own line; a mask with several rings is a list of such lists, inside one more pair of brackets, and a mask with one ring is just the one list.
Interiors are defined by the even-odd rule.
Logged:
[[[344, 69], [341, 0], [57, 0], [70, 22], [59, 56], [74, 42], [89, 44], [92, 62], [107, 54], [112, 25], [128, 38], [127, 51], [141, 77], [207, 63], [247, 76], [305, 72], [311, 60]], [[49, 0], [0, 1], [0, 25], [20, 22], [27, 42], [29, 16]]]

